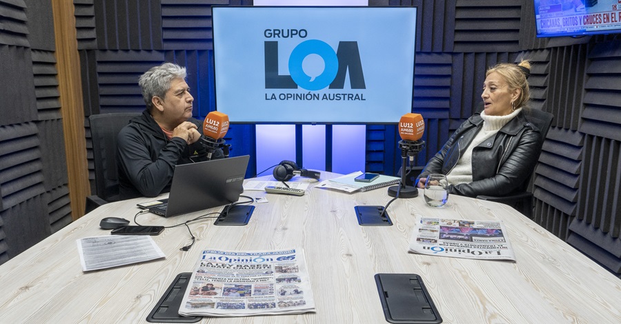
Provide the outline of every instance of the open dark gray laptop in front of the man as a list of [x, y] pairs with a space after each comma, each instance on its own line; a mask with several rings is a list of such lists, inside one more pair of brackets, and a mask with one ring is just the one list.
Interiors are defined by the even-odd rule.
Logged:
[[175, 166], [168, 203], [149, 208], [164, 217], [234, 203], [244, 192], [249, 155]]

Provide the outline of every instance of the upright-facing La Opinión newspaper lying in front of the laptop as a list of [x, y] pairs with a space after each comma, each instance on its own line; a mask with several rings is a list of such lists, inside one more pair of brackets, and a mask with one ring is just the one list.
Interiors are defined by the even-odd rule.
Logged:
[[252, 316], [315, 312], [304, 250], [205, 250], [195, 267], [182, 316]]

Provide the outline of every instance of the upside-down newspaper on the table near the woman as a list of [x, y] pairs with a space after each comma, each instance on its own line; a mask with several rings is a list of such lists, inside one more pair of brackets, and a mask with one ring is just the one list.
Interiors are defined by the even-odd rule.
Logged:
[[453, 258], [509, 260], [515, 254], [501, 221], [420, 218], [409, 252]]

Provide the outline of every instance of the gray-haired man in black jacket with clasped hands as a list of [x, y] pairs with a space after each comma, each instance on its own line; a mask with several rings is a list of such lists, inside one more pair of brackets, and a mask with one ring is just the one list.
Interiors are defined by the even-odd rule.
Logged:
[[[199, 142], [202, 123], [192, 118], [194, 97], [185, 79], [186, 68], [173, 63], [141, 75], [146, 110], [117, 137], [121, 199], [168, 192], [175, 165], [206, 160], [207, 150]], [[221, 150], [213, 153], [213, 159], [222, 157]]]

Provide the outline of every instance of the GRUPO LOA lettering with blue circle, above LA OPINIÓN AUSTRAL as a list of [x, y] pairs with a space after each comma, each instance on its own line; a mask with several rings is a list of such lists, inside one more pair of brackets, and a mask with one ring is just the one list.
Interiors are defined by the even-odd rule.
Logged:
[[[335, 51], [322, 40], [306, 39], [308, 32], [304, 29], [266, 29], [264, 36], [268, 39], [279, 39], [265, 41], [266, 89], [343, 89], [347, 72], [352, 89], [366, 88], [357, 41], [339, 41]], [[302, 41], [293, 48], [288, 58], [279, 58], [280, 39]], [[279, 59], [288, 60], [289, 74], [279, 74]]]

